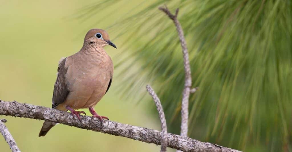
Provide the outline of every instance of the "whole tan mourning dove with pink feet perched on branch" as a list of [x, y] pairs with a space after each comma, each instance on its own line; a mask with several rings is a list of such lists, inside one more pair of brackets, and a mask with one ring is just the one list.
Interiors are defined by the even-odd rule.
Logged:
[[[92, 117], [108, 119], [98, 115], [94, 107], [107, 93], [113, 78], [113, 62], [104, 50], [106, 45], [117, 48], [109, 40], [109, 35], [102, 29], [91, 29], [86, 33], [81, 50], [66, 58], [61, 58], [58, 64], [57, 79], [54, 85], [52, 108], [70, 111], [73, 119], [84, 111], [76, 109], [89, 108]], [[108, 119], [109, 120], [109, 119]], [[45, 121], [39, 132], [39, 137], [57, 123]]]

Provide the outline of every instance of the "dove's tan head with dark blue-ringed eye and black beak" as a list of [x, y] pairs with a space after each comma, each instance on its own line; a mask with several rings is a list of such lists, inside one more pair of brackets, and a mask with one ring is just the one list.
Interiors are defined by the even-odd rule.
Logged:
[[109, 40], [109, 35], [105, 30], [102, 29], [91, 29], [86, 33], [84, 38], [84, 45], [93, 45], [105, 47], [106, 45], [111, 45], [117, 48], [114, 43]]

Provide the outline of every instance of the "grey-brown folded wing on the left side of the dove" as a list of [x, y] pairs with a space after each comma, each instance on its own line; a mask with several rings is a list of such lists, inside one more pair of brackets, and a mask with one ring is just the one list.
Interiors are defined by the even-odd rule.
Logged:
[[52, 108], [56, 108], [59, 104], [63, 103], [69, 93], [65, 81], [65, 75], [67, 73], [67, 68], [65, 68], [65, 62], [66, 58], [59, 61], [57, 80], [55, 82], [52, 98]]

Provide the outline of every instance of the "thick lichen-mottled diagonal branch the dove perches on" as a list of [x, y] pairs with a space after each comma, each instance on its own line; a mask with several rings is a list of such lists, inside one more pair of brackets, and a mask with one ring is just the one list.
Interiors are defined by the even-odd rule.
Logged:
[[[97, 132], [107, 133], [111, 135], [127, 137], [134, 140], [139, 140], [146, 143], [160, 145], [161, 132], [153, 129], [131, 126], [114, 121], [103, 119], [103, 124], [96, 118], [91, 119], [89, 116], [80, 116], [81, 122], [78, 119], [73, 119], [69, 112], [63, 112], [47, 107], [29, 105], [14, 102], [5, 102], [0, 100], [0, 115], [18, 116], [32, 119], [41, 119], [62, 123], [77, 128], [93, 130]], [[37, 136], [37, 132], [36, 132]], [[234, 149], [226, 148], [208, 142], [200, 142], [189, 137], [182, 137], [175, 134], [167, 134], [168, 147], [178, 149], [185, 152], [240, 152]]]

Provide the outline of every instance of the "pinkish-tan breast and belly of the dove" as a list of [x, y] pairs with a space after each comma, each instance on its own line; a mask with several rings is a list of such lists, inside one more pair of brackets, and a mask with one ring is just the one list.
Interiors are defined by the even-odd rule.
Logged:
[[70, 65], [66, 74], [69, 89], [66, 105], [74, 109], [96, 105], [107, 90], [112, 68], [102, 62]]

